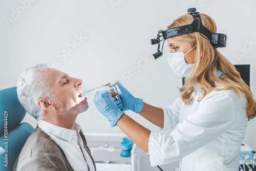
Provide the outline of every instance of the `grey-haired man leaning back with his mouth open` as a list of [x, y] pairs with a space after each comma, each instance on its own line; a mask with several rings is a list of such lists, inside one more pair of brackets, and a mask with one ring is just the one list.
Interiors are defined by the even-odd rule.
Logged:
[[82, 80], [39, 64], [25, 70], [17, 94], [26, 111], [38, 120], [15, 161], [13, 170], [96, 170], [79, 113], [89, 108]]

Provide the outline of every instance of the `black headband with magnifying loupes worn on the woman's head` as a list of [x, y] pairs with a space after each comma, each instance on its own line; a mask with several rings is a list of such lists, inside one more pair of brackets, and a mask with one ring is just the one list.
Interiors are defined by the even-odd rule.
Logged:
[[[201, 22], [201, 18], [199, 12], [196, 11], [196, 8], [189, 8], [187, 10], [187, 14], [193, 16], [194, 20], [189, 25], [184, 25], [180, 27], [175, 27], [168, 30], [159, 30], [157, 34], [157, 38], [151, 39], [151, 45], [158, 44], [157, 52], [153, 54], [154, 59], [159, 58], [163, 54], [163, 45], [164, 41], [169, 37], [174, 37], [182, 34], [199, 32], [201, 36], [210, 40], [211, 45], [216, 48], [224, 48], [227, 44], [227, 35], [223, 33], [211, 33], [207, 28], [205, 28]], [[202, 35], [202, 33], [204, 35]], [[206, 37], [205, 37], [206, 36]], [[160, 39], [163, 37], [162, 39]], [[160, 51], [160, 41], [163, 41], [162, 51]]]

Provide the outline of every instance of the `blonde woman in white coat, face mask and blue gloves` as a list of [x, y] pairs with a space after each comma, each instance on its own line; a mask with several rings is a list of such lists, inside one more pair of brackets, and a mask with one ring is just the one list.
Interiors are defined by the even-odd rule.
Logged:
[[[214, 20], [200, 14], [202, 24], [216, 33]], [[186, 14], [168, 29], [193, 22]], [[256, 102], [233, 65], [199, 32], [167, 38], [168, 65], [185, 78], [180, 98], [156, 108], [135, 98], [118, 81], [124, 111], [132, 110], [161, 128], [151, 132], [118, 109], [109, 91], [95, 94], [96, 108], [144, 152], [152, 166], [180, 159], [181, 170], [237, 170], [247, 122]], [[173, 130], [174, 129], [174, 130]], [[173, 130], [173, 131], [172, 131]]]

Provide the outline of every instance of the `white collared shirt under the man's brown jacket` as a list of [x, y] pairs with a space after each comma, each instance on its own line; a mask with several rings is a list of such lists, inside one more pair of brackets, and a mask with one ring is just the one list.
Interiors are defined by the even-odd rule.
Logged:
[[38, 127], [61, 147], [75, 171], [88, 171], [88, 167], [90, 171], [95, 171], [93, 161], [83, 147], [82, 138], [79, 135], [81, 126], [78, 123], [75, 123], [74, 130], [70, 130], [44, 120], [38, 120]]

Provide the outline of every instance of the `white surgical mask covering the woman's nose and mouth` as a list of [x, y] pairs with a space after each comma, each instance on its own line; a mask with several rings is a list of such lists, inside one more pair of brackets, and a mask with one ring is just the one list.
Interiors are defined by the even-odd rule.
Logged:
[[[194, 46], [194, 48], [195, 47], [196, 46]], [[190, 49], [188, 52], [190, 52], [192, 49]], [[185, 55], [183, 52], [168, 53], [168, 64], [170, 68], [172, 68], [173, 72], [180, 77], [188, 76], [194, 68], [194, 63], [187, 63], [185, 61]]]

